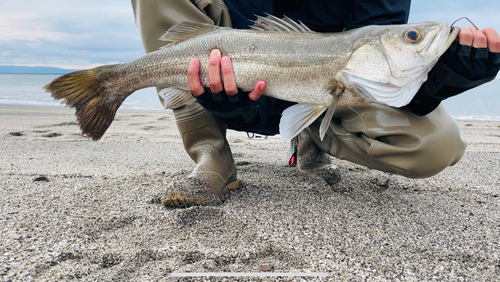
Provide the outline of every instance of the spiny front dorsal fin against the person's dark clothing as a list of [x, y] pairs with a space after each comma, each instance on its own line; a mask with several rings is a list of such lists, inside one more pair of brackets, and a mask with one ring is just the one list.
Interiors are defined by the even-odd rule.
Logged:
[[257, 20], [254, 21], [254, 25], [251, 26], [251, 29], [260, 31], [314, 32], [301, 21], [296, 22], [287, 16], [280, 19], [270, 14], [266, 15], [267, 17], [256, 15]]

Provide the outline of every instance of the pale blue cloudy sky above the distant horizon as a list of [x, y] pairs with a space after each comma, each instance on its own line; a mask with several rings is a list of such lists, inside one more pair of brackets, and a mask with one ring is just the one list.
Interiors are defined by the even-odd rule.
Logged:
[[[410, 22], [467, 16], [480, 29], [500, 30], [499, 15], [498, 0], [415, 0]], [[130, 1], [0, 1], [0, 65], [84, 69], [142, 55]]]

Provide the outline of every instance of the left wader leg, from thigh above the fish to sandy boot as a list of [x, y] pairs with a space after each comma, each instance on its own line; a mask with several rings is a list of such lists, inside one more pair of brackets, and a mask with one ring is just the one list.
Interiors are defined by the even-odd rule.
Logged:
[[[164, 45], [165, 42], [158, 38], [182, 21], [231, 26], [224, 4], [218, 1], [196, 3], [198, 6], [182, 0], [132, 0], [146, 52], [156, 51]], [[172, 207], [216, 204], [226, 189], [238, 186], [225, 125], [198, 103], [173, 109], [173, 113], [184, 148], [196, 166], [187, 178], [174, 179], [170, 183], [163, 203]]]

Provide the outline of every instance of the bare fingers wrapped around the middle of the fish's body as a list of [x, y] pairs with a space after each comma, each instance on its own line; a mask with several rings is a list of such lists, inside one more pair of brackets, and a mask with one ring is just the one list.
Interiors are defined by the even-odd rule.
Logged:
[[[188, 86], [195, 97], [205, 93], [205, 88], [200, 82], [199, 72], [200, 61], [195, 58], [191, 59], [188, 66]], [[208, 60], [208, 83], [210, 92], [212, 93], [224, 91], [229, 96], [238, 94], [231, 59], [227, 56], [222, 57], [218, 49], [214, 49], [210, 53], [210, 58]], [[265, 89], [266, 82], [259, 80], [255, 88], [248, 94], [248, 97], [252, 101], [257, 101], [257, 99], [264, 94]]]

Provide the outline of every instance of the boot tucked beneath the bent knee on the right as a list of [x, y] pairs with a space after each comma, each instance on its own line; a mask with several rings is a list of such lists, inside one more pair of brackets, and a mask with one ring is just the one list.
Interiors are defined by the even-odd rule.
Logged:
[[295, 140], [297, 144], [297, 167], [300, 171], [323, 178], [328, 185], [340, 181], [340, 171], [332, 164], [330, 155], [314, 142], [309, 128], [304, 129]]

